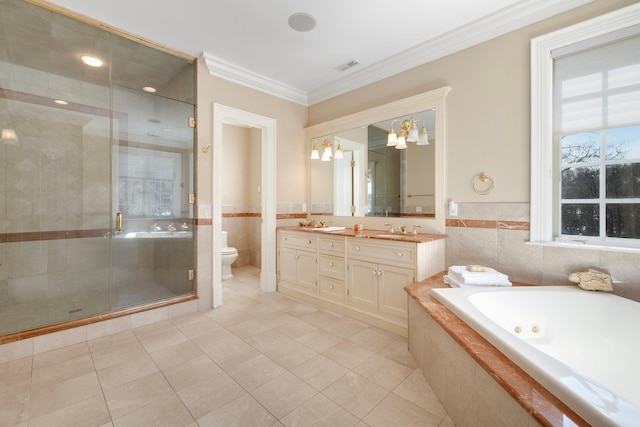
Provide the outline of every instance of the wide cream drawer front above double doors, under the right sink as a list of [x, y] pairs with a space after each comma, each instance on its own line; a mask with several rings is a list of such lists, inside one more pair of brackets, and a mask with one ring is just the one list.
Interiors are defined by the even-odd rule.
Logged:
[[[381, 241], [382, 242], [382, 241]], [[347, 243], [349, 258], [382, 262], [392, 265], [415, 265], [416, 245], [413, 243], [371, 243], [362, 239], [349, 239]]]

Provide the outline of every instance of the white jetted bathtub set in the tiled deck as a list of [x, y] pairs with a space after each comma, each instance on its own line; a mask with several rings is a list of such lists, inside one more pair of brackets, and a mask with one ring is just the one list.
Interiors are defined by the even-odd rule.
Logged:
[[590, 424], [640, 425], [640, 303], [574, 286], [432, 295]]

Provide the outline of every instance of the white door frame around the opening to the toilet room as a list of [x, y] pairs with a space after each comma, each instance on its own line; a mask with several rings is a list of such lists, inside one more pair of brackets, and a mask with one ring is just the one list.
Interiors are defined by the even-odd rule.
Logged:
[[260, 129], [262, 133], [261, 165], [261, 266], [260, 290], [276, 290], [276, 120], [226, 105], [213, 103], [211, 241], [213, 307], [222, 304], [222, 179], [224, 124]]

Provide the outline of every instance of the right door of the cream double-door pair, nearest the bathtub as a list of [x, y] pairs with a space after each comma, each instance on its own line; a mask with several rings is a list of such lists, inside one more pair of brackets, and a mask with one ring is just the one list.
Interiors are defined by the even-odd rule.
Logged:
[[413, 269], [379, 265], [378, 310], [402, 319], [407, 318], [407, 293], [404, 287], [413, 283]]

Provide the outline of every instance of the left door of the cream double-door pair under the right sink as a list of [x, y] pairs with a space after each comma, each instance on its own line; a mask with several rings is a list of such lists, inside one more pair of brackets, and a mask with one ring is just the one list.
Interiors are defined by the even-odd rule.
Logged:
[[378, 309], [378, 264], [351, 260], [348, 265], [347, 304]]

